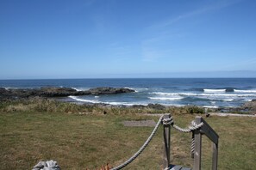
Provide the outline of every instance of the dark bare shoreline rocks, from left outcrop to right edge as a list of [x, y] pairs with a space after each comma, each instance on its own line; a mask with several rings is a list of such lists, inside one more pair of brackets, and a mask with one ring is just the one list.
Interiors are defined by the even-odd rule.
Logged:
[[[68, 97], [70, 95], [78, 96], [78, 95], [104, 95], [104, 94], [125, 94], [125, 93], [133, 93], [135, 92], [133, 89], [129, 88], [109, 88], [109, 87], [101, 87], [101, 88], [91, 88], [89, 90], [78, 91], [74, 88], [0, 88], [0, 102], [1, 101], [13, 101], [13, 100], [28, 100], [34, 98], [45, 98], [45, 99], [60, 99], [61, 97]], [[61, 100], [60, 100], [61, 101]], [[62, 100], [63, 101], [63, 100]], [[108, 106], [107, 104], [83, 104], [87, 106]], [[115, 107], [115, 106], [114, 106]], [[148, 104], [147, 106], [116, 106], [116, 107], [132, 107], [132, 108], [150, 108], [154, 110], [162, 110], [164, 111], [168, 106], [163, 106], [160, 104]], [[193, 107], [193, 106], [191, 106]], [[195, 106], [196, 111], [200, 111], [200, 113], [204, 112], [204, 108], [200, 106]], [[198, 109], [199, 108], [199, 109]], [[195, 112], [194, 109], [189, 112]], [[248, 101], [242, 106], [237, 107], [220, 107], [220, 108], [211, 108], [209, 112], [232, 112], [232, 113], [256, 113], [256, 100]]]

